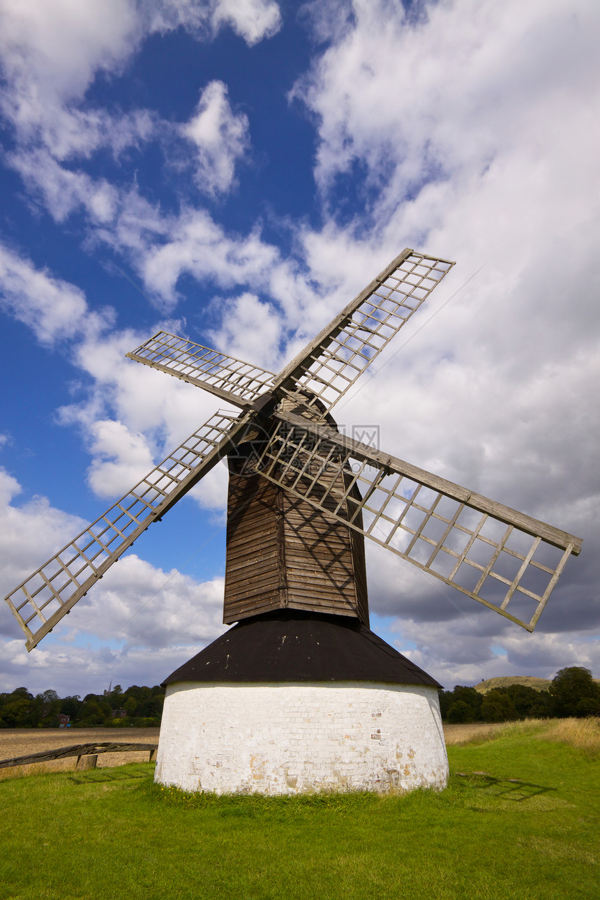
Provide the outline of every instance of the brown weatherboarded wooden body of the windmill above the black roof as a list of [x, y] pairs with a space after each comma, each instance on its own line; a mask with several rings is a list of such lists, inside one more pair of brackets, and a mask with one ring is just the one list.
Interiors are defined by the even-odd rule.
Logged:
[[[328, 417], [328, 424], [336, 428]], [[268, 422], [250, 430], [228, 459], [228, 527], [223, 621], [277, 609], [358, 617], [369, 625], [363, 534], [255, 473]], [[271, 429], [272, 430], [272, 429]], [[344, 490], [352, 478], [337, 476]], [[354, 489], [354, 497], [360, 494]], [[333, 508], [333, 501], [328, 503]], [[348, 516], [348, 505], [342, 507]], [[362, 524], [362, 517], [360, 518]]]

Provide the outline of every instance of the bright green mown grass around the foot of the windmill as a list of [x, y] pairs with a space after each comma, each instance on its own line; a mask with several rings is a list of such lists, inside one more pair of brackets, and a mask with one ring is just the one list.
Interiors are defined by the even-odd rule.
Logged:
[[598, 896], [597, 720], [448, 748], [449, 788], [404, 797], [186, 797], [153, 766], [0, 784], [0, 897]]

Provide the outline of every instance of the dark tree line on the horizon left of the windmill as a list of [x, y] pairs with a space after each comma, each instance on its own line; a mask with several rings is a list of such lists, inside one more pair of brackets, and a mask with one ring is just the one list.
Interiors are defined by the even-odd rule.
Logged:
[[58, 728], [61, 716], [76, 728], [106, 725], [136, 728], [160, 725], [165, 689], [140, 688], [132, 685], [122, 690], [116, 685], [103, 694], [76, 694], [58, 697], [56, 690], [31, 694], [27, 688], [16, 688], [0, 694], [0, 728]]

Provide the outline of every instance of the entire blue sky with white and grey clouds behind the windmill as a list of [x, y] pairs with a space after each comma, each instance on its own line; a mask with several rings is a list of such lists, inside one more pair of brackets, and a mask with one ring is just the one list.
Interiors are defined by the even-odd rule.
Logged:
[[[457, 265], [336, 419], [584, 549], [528, 635], [373, 546], [375, 627], [449, 687], [597, 676], [599, 19], [4, 0], [3, 595], [216, 409], [128, 350], [183, 329], [278, 371], [416, 247]], [[0, 689], [155, 684], [218, 636], [226, 491], [219, 466], [31, 654], [1, 610]]]

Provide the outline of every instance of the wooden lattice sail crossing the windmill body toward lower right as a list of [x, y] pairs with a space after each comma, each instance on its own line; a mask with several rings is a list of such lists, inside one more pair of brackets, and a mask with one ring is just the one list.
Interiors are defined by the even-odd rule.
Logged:
[[[569, 555], [579, 553], [580, 538], [333, 428], [292, 413], [275, 418], [279, 424], [256, 471], [533, 631]], [[349, 466], [353, 478], [341, 491], [340, 473]]]

